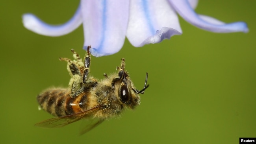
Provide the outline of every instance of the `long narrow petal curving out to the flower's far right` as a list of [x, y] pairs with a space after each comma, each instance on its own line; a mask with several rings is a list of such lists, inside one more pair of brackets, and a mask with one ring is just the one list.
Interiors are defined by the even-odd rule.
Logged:
[[247, 24], [244, 22], [225, 24], [215, 18], [198, 16], [187, 0], [169, 0], [169, 2], [181, 17], [198, 28], [217, 33], [248, 32]]

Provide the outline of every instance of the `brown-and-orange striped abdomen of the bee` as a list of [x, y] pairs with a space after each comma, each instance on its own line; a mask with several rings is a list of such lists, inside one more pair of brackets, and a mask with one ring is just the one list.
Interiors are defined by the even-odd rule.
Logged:
[[41, 107], [54, 116], [66, 116], [87, 109], [88, 93], [71, 98], [67, 89], [51, 89], [37, 96]]

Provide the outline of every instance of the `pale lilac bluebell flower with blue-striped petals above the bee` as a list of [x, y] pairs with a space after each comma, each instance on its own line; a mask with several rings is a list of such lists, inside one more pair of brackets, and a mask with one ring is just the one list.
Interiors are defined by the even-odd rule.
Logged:
[[24, 14], [24, 26], [41, 35], [60, 36], [83, 24], [84, 48], [99, 57], [119, 52], [125, 37], [135, 47], [154, 44], [182, 34], [177, 13], [194, 26], [216, 33], [247, 32], [244, 22], [225, 24], [198, 15], [198, 0], [81, 0], [74, 16], [65, 24], [49, 25], [32, 14]]

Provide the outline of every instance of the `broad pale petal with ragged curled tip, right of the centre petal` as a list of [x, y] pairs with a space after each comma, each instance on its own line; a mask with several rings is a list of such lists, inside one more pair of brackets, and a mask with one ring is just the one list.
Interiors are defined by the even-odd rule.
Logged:
[[[163, 27], [169, 28], [161, 30]], [[162, 33], [161, 36], [156, 31]], [[175, 33], [172, 33], [175, 31]], [[165, 34], [165, 32], [167, 34]], [[171, 35], [181, 34], [178, 16], [167, 0], [130, 0], [130, 17], [127, 38], [132, 45], [157, 43], [169, 39]], [[153, 41], [152, 41], [153, 39]]]

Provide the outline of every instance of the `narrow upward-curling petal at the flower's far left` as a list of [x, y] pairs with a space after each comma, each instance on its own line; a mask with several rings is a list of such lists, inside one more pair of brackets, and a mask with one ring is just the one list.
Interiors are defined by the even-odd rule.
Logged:
[[35, 33], [46, 36], [60, 36], [70, 33], [82, 24], [82, 13], [80, 6], [78, 7], [75, 15], [65, 24], [62, 25], [50, 25], [46, 24], [33, 14], [24, 14], [22, 16], [22, 22], [24, 27]]

